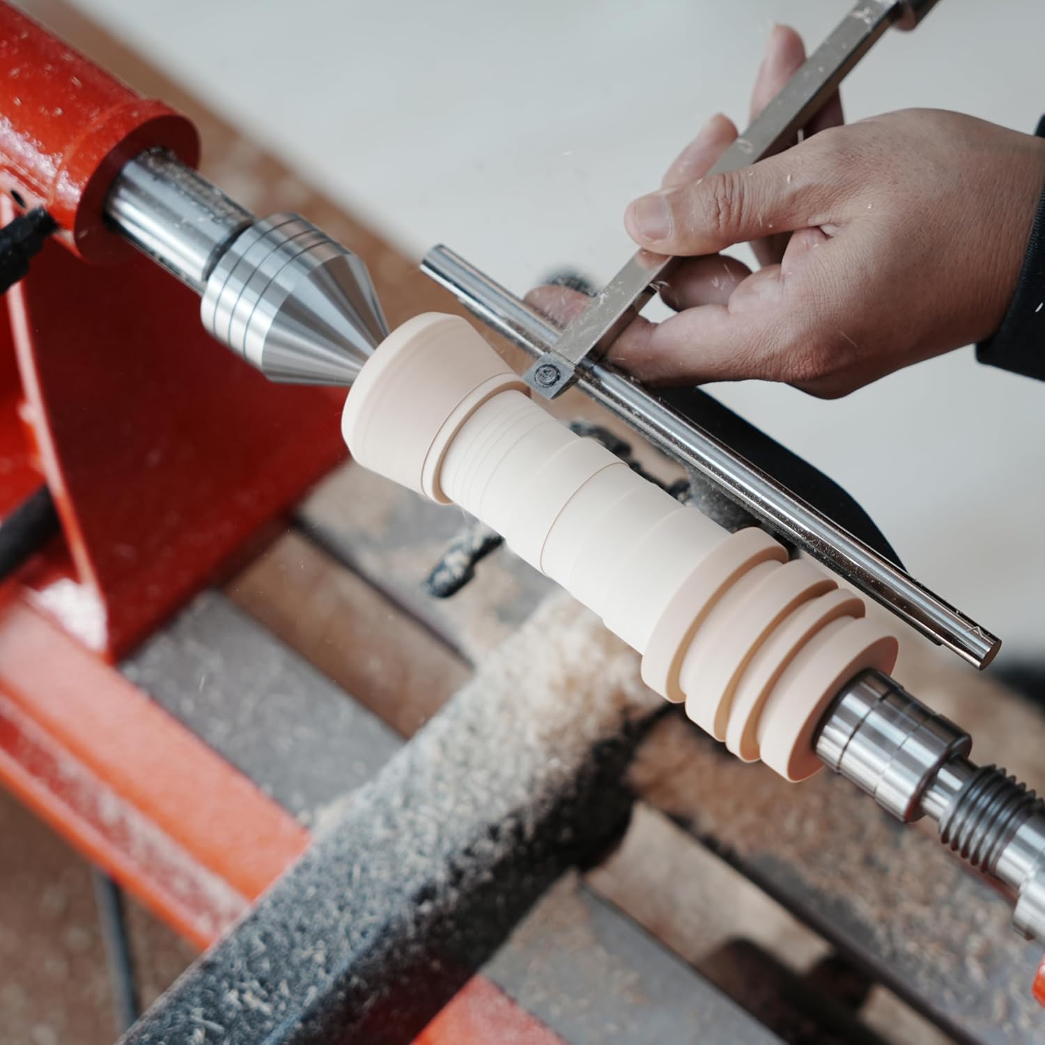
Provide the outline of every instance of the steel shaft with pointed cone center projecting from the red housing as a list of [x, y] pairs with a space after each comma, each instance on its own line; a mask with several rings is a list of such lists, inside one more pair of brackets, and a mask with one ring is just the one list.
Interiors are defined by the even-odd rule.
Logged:
[[202, 295], [208, 332], [274, 381], [351, 385], [388, 334], [366, 265], [297, 214], [259, 222], [163, 152], [106, 201], [113, 227]]

